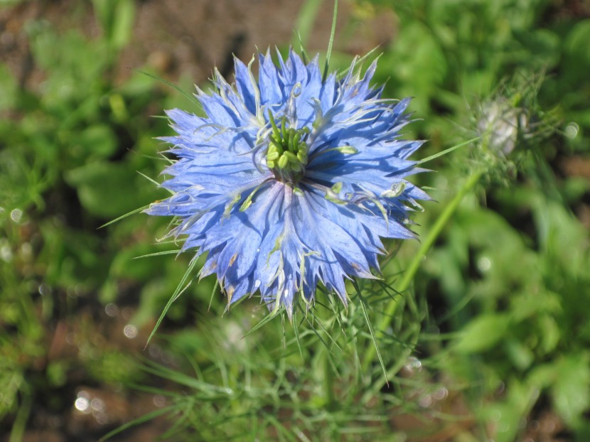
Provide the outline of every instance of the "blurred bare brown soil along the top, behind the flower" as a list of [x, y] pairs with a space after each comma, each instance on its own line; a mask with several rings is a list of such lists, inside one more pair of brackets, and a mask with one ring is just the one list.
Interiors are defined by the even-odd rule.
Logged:
[[[232, 54], [250, 60], [257, 48], [265, 50], [293, 40], [303, 0], [144, 0], [136, 1], [132, 41], [119, 60], [124, 80], [135, 68], [151, 65], [168, 80], [190, 75], [205, 81], [217, 66], [232, 71]], [[0, 59], [16, 73], [21, 86], [41, 80], [28, 50], [26, 25], [48, 21], [60, 31], [79, 28], [89, 37], [100, 35], [90, 1], [21, 1], [0, 8]], [[331, 1], [323, 1], [313, 23], [308, 50], [325, 50], [332, 21]], [[336, 49], [350, 54], [386, 46], [395, 36], [390, 10], [355, 6], [340, 1]]]

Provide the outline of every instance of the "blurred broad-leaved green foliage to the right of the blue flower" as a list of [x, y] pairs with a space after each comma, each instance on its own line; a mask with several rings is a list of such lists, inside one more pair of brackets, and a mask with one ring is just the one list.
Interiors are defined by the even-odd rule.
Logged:
[[[542, 404], [557, 412], [576, 440], [585, 440], [590, 239], [587, 220], [582, 225], [576, 212], [586, 207], [590, 177], [568, 175], [563, 165], [587, 162], [590, 154], [590, 53], [581, 43], [590, 21], [543, 0], [394, 4], [399, 35], [377, 74], [391, 76], [390, 96], [416, 97], [429, 149], [476, 134], [463, 116], [471, 111], [476, 117], [498, 85], [508, 98], [522, 97], [526, 81], [532, 85], [543, 73], [535, 101], [555, 110], [537, 118], [559, 124], [555, 129], [575, 128], [570, 137], [533, 136], [530, 151], [516, 153], [524, 161], [516, 180], [503, 180], [508, 185], [483, 180], [485, 199], [480, 189], [463, 202], [424, 263], [417, 293], [452, 312], [432, 318], [459, 332], [436, 367], [476, 391], [473, 411], [493, 424], [496, 441], [521, 440], [526, 419], [540, 416]], [[527, 80], [507, 82], [513, 76]], [[431, 185], [451, 190], [473, 161], [473, 154], [459, 153], [441, 166], [429, 165], [438, 172]], [[440, 210], [448, 197], [434, 196], [441, 198]], [[436, 210], [429, 207], [419, 219], [420, 232], [428, 232]]]

